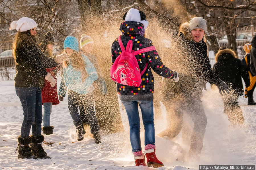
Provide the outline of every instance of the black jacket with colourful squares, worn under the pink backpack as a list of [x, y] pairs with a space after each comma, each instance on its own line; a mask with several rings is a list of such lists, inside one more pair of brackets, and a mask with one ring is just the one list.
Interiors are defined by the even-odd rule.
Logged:
[[[132, 40], [132, 52], [153, 46], [152, 41], [148, 38], [136, 34], [143, 29], [143, 24], [135, 21], [125, 21], [121, 24], [120, 30], [124, 35], [121, 36], [122, 43], [126, 47], [129, 40]], [[116, 58], [121, 54], [122, 50], [119, 46], [118, 40], [112, 44], [112, 64]], [[142, 83], [139, 87], [126, 86], [117, 83], [117, 93], [120, 95], [121, 101], [133, 101], [133, 100], [153, 100], [154, 93], [154, 77], [151, 72], [151, 68], [159, 75], [165, 78], [174, 78], [175, 72], [163, 65], [157, 51], [149, 51], [135, 56], [140, 70], [145, 68], [146, 63], [148, 67], [145, 73], [142, 75]], [[171, 81], [171, 80], [169, 80]]]

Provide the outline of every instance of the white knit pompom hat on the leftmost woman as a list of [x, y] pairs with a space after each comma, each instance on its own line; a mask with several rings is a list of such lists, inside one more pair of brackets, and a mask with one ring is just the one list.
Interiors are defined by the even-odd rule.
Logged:
[[24, 32], [32, 28], [37, 28], [36, 21], [28, 17], [22, 17], [18, 21], [13, 21], [10, 24], [12, 29], [16, 29], [19, 32]]

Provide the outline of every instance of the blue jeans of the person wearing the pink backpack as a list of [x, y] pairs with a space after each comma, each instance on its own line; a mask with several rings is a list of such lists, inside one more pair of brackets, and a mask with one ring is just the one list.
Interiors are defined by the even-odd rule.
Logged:
[[142, 112], [142, 121], [145, 129], [145, 146], [155, 145], [155, 125], [153, 113], [153, 101], [122, 101], [126, 110], [130, 125], [130, 141], [132, 152], [141, 151], [140, 142], [140, 116], [138, 104]]

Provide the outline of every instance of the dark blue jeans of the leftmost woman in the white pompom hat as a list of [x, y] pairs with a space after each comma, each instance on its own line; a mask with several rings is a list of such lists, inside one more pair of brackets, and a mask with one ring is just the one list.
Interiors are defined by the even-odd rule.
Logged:
[[32, 126], [32, 135], [41, 135], [42, 124], [42, 93], [40, 87], [15, 87], [23, 109], [21, 137], [29, 136]]

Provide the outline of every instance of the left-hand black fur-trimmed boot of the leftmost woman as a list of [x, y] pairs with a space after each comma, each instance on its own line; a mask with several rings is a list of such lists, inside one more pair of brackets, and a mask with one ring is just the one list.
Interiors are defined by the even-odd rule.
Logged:
[[[18, 137], [18, 158], [19, 159], [37, 159], [35, 155], [31, 152], [31, 149], [29, 147], [29, 143], [31, 141], [31, 138], [25, 137], [22, 138], [21, 136]], [[17, 151], [16, 149], [16, 151]]]

